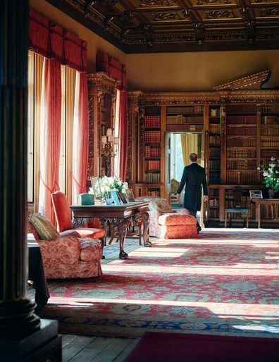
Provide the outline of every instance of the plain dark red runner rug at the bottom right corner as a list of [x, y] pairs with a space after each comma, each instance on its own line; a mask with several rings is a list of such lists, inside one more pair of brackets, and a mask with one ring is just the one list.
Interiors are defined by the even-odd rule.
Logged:
[[279, 339], [147, 332], [125, 362], [278, 362]]

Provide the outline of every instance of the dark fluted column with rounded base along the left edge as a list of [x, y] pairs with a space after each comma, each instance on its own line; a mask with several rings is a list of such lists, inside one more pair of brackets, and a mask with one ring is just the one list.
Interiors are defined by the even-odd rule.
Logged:
[[27, 299], [28, 1], [2, 0], [0, 11], [0, 338], [39, 328]]

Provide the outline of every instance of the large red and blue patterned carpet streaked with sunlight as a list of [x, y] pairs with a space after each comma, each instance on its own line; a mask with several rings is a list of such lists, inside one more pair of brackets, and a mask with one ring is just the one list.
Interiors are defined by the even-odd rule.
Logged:
[[195, 239], [106, 246], [101, 282], [49, 283], [44, 318], [60, 332], [140, 337], [146, 331], [278, 337], [279, 232], [206, 229]]

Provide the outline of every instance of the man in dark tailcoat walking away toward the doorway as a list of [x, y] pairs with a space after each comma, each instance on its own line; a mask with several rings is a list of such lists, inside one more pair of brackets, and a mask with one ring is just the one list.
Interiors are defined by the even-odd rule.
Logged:
[[[197, 218], [197, 211], [202, 206], [202, 189], [204, 191], [204, 201], [207, 201], [209, 196], [207, 196], [206, 173], [204, 168], [197, 164], [197, 154], [190, 154], [190, 161], [190, 166], [186, 166], [183, 170], [177, 197], [180, 199], [180, 193], [186, 184], [184, 207], [190, 211], [190, 215]], [[202, 230], [198, 221], [197, 230], [198, 232]]]

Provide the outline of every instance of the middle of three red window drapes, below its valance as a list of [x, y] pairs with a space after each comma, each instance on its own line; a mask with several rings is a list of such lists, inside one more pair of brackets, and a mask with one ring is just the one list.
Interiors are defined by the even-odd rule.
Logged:
[[77, 72], [75, 82], [75, 109], [73, 124], [73, 199], [86, 192], [86, 177], [89, 147], [89, 114], [87, 76]]

